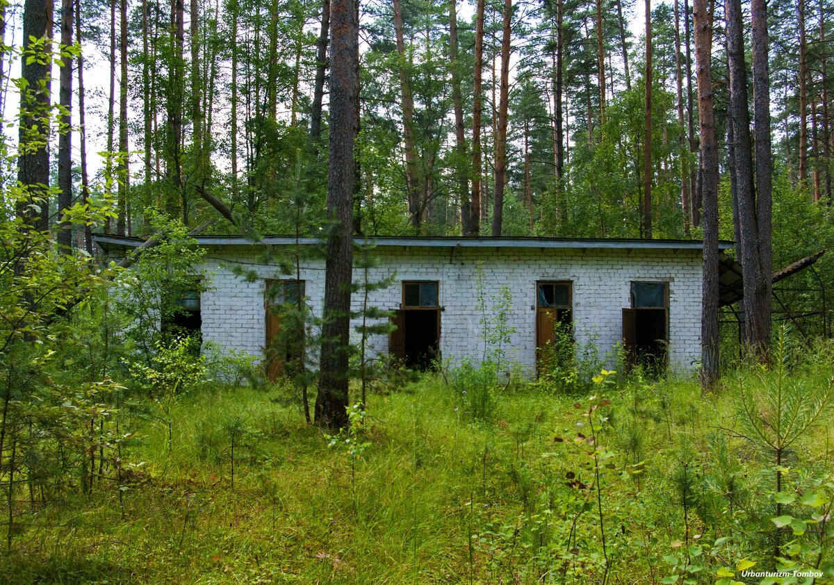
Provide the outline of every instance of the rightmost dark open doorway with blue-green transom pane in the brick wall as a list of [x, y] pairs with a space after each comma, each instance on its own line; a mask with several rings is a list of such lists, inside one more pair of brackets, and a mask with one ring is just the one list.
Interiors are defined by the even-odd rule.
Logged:
[[629, 366], [666, 368], [669, 347], [668, 283], [631, 283], [631, 308], [623, 309], [623, 345]]

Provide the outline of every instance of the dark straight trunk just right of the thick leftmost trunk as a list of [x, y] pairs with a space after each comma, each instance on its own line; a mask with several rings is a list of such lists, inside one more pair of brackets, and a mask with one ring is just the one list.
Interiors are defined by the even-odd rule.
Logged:
[[[2, 2], [2, 0], [0, 0]], [[61, 2], [61, 50], [73, 44], [73, 0]], [[64, 108], [61, 114], [62, 132], [58, 135], [58, 218], [73, 205], [73, 57], [62, 58], [58, 99]], [[58, 229], [58, 246], [69, 252], [73, 245], [73, 224], [62, 221]]]

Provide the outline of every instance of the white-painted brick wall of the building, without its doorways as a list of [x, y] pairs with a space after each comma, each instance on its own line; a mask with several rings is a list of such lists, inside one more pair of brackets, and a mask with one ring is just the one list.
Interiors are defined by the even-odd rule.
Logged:
[[[484, 272], [487, 306], [502, 286], [510, 288], [512, 307], [508, 324], [515, 328], [510, 361], [532, 372], [535, 367], [535, 283], [565, 280], [573, 283], [573, 318], [578, 343], [596, 339], [601, 353], [609, 352], [622, 335], [622, 308], [630, 307], [632, 281], [669, 283], [669, 363], [691, 371], [701, 356], [701, 252], [697, 250], [615, 250], [589, 248], [377, 248], [379, 267], [369, 271], [377, 281], [393, 273], [394, 286], [370, 295], [379, 308], [399, 308], [400, 281], [436, 280], [440, 283], [440, 350], [453, 361], [480, 359], [483, 338], [477, 300], [477, 270]], [[277, 266], [265, 265], [263, 248], [234, 246], [208, 248], [206, 270], [211, 288], [203, 293], [203, 340], [260, 357], [264, 353], [264, 279], [294, 278]], [[480, 264], [479, 264], [480, 263]], [[232, 265], [253, 271], [248, 282], [235, 276]], [[362, 271], [354, 270], [354, 282]], [[324, 302], [324, 259], [302, 263], [301, 279], [309, 303], [320, 315]], [[353, 308], [361, 307], [354, 295]], [[357, 323], [352, 323], [356, 325]], [[377, 352], [388, 351], [387, 336], [369, 340]]]

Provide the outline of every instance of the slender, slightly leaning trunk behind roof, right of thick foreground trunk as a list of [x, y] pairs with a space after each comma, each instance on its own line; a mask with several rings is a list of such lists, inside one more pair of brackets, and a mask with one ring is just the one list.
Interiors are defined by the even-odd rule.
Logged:
[[424, 203], [420, 200], [420, 178], [417, 172], [417, 152], [414, 146], [414, 99], [411, 97], [409, 58], [405, 54], [403, 11], [399, 0], [394, 0], [394, 31], [399, 56], [399, 90], [403, 107], [403, 138], [405, 143], [405, 190], [408, 196], [409, 217], [414, 231], [420, 233]]

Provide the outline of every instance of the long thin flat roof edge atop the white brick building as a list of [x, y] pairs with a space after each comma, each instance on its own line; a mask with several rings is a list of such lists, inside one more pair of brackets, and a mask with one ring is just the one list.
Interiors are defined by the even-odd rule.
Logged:
[[[201, 246], [250, 246], [271, 245], [289, 246], [295, 243], [294, 236], [264, 236], [253, 241], [245, 236], [193, 236]], [[93, 239], [99, 247], [137, 248], [144, 240], [124, 236], [95, 234]], [[418, 236], [378, 236], [376, 238], [355, 237], [354, 242], [365, 245], [375, 244], [379, 247], [400, 248], [574, 248], [574, 249], [625, 249], [625, 250], [701, 250], [699, 240], [637, 240], [620, 238], [462, 238], [462, 237], [418, 237]], [[319, 238], [300, 238], [304, 245], [321, 244]], [[721, 250], [733, 247], [732, 242], [721, 241]]]

